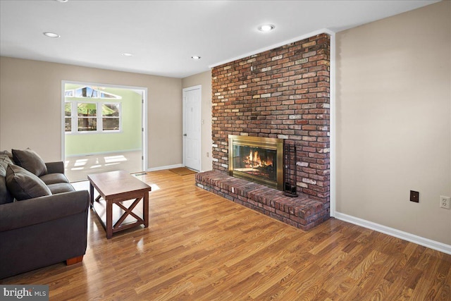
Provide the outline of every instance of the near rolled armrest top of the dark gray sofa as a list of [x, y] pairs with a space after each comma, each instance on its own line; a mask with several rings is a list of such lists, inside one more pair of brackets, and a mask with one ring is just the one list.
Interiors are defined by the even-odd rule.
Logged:
[[32, 226], [79, 214], [89, 208], [87, 190], [63, 192], [0, 205], [0, 231]]

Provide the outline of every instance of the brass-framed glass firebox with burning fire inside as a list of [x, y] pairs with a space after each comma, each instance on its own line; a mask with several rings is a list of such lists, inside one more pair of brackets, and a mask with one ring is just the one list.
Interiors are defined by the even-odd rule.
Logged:
[[283, 139], [228, 136], [230, 176], [283, 190]]

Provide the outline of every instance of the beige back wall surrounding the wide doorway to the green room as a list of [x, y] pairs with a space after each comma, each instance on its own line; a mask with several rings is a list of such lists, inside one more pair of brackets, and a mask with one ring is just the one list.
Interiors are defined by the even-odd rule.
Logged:
[[153, 75], [0, 58], [0, 149], [61, 156], [61, 81], [147, 87], [148, 168], [182, 163], [182, 81]]

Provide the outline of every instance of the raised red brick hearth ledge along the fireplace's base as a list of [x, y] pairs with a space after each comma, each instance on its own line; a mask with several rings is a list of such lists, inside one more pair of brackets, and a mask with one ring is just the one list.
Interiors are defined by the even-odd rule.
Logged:
[[197, 173], [196, 185], [302, 230], [309, 230], [329, 217], [329, 205], [309, 199], [307, 195], [286, 197], [280, 190], [233, 178], [220, 171]]

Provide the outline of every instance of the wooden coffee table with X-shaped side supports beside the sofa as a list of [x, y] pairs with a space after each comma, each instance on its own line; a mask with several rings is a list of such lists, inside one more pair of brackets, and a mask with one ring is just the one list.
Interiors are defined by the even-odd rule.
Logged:
[[[104, 226], [106, 238], [109, 239], [113, 233], [135, 226], [144, 225], [144, 228], [149, 226], [149, 192], [151, 191], [149, 185], [126, 171], [95, 173], [88, 175], [87, 178], [91, 208]], [[99, 197], [95, 201], [94, 188], [99, 192]], [[140, 212], [136, 205], [141, 199], [142, 211]], [[114, 209], [113, 204], [116, 204]], [[139, 216], [140, 213], [142, 216]]]

